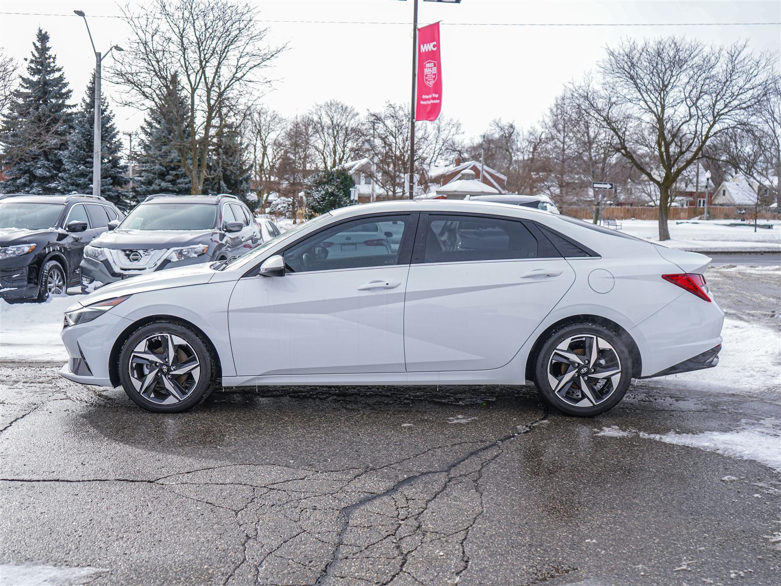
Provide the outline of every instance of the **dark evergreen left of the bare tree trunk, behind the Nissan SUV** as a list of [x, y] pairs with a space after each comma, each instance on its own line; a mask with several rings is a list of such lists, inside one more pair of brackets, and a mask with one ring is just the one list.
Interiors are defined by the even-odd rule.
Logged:
[[[162, 108], [170, 120], [178, 120], [184, 140], [190, 136], [187, 131], [187, 102], [179, 90], [177, 78], [173, 78], [171, 89]], [[155, 193], [190, 193], [192, 181], [182, 168], [177, 152], [179, 138], [171, 131], [158, 107], [149, 110], [141, 125], [141, 145], [137, 155], [137, 173], [134, 178], [134, 195], [139, 199]]]

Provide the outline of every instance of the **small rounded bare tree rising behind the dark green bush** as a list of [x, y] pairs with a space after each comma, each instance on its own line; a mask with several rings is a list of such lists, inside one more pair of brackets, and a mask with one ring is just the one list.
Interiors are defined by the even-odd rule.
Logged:
[[354, 157], [361, 146], [361, 120], [355, 108], [328, 100], [316, 104], [310, 116], [314, 123], [314, 148], [324, 170], [342, 166]]

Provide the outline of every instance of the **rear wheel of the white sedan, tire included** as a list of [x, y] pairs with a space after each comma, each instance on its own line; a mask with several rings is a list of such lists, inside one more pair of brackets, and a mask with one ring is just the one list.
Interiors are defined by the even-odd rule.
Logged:
[[612, 409], [631, 381], [626, 342], [596, 323], [572, 323], [551, 332], [534, 364], [543, 400], [567, 415], [594, 416]]

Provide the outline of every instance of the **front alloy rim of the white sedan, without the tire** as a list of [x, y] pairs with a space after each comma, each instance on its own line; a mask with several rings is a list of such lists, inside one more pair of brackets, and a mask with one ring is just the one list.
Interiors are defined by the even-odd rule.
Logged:
[[175, 334], [154, 334], [133, 349], [128, 365], [136, 392], [158, 405], [182, 402], [201, 378], [194, 349]]

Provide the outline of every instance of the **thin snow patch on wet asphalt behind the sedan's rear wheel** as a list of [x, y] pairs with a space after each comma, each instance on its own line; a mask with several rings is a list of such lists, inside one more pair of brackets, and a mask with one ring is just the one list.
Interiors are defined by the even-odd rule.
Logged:
[[647, 434], [644, 431], [622, 430], [613, 425], [603, 427], [597, 435], [608, 438], [643, 438], [667, 444], [687, 445], [722, 456], [754, 460], [781, 472], [781, 422], [768, 418], [761, 421], [741, 420], [732, 431], [704, 431], [701, 434]]

